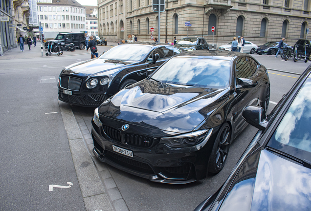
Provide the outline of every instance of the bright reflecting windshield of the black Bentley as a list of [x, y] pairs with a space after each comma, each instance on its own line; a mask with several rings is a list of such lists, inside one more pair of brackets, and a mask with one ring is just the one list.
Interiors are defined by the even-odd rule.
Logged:
[[105, 52], [99, 59], [139, 62], [150, 52], [151, 46], [136, 44], [121, 44]]

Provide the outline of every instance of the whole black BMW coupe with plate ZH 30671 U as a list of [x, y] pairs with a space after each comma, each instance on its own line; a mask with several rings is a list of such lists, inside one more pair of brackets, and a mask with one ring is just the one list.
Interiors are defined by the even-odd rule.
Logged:
[[244, 106], [267, 109], [269, 93], [267, 69], [249, 55], [181, 53], [95, 109], [93, 153], [155, 182], [203, 179], [222, 170]]

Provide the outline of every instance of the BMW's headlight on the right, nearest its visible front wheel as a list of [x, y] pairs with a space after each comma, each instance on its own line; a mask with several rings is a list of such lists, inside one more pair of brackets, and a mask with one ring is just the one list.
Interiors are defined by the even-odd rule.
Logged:
[[198, 130], [172, 137], [161, 138], [160, 143], [173, 148], [191, 147], [202, 142], [207, 134], [207, 130]]

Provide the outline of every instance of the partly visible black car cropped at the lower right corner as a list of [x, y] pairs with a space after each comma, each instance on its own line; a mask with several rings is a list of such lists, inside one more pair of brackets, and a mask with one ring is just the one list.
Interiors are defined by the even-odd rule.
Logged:
[[311, 66], [266, 118], [246, 106], [259, 131], [222, 187], [195, 211], [311, 210]]

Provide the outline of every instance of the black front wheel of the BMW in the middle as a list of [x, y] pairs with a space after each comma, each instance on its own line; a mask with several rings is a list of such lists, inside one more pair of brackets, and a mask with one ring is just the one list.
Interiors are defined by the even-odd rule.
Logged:
[[216, 137], [212, 153], [208, 162], [208, 171], [210, 173], [219, 173], [225, 161], [230, 148], [231, 130], [228, 123], [224, 123]]

